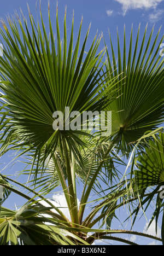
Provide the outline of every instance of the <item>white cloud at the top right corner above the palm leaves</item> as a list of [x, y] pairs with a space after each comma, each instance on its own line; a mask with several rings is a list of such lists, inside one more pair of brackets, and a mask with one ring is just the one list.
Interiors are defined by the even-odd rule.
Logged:
[[157, 5], [163, 0], [115, 0], [122, 4], [123, 15], [130, 9], [150, 9], [157, 8]]

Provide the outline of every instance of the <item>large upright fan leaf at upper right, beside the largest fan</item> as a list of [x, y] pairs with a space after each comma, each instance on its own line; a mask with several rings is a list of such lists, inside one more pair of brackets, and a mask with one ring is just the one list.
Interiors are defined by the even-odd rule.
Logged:
[[[164, 72], [163, 61], [160, 56], [160, 46], [163, 37], [159, 40], [160, 31], [153, 40], [153, 30], [147, 38], [147, 28], [144, 32], [142, 43], [139, 46], [139, 32], [133, 49], [133, 29], [131, 32], [130, 46], [126, 48], [126, 31], [124, 31], [124, 49], [121, 56], [120, 40], [118, 33], [118, 61], [114, 46], [111, 42], [112, 58], [108, 54], [106, 69], [108, 79], [117, 78], [118, 98], [108, 106], [112, 110], [112, 130], [119, 138], [122, 145], [135, 142], [148, 130], [153, 130], [163, 118], [164, 100]], [[160, 43], [158, 43], [159, 41]]]

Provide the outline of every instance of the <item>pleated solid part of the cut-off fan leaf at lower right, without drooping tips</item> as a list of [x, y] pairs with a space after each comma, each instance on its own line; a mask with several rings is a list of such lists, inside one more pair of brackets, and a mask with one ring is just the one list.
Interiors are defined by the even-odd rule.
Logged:
[[136, 181], [139, 189], [164, 183], [164, 133], [149, 140], [149, 146], [139, 156]]

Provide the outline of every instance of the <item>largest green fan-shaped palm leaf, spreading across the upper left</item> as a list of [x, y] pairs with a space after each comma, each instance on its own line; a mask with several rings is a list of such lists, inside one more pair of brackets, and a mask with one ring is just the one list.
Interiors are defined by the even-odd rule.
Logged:
[[1, 98], [3, 104], [5, 102], [4, 107], [8, 110], [12, 126], [6, 142], [9, 139], [22, 139], [37, 149], [44, 148], [48, 156], [54, 152], [57, 143], [62, 141], [61, 138], [66, 138], [67, 145], [75, 152], [75, 142], [80, 142], [77, 131], [54, 131], [52, 115], [55, 111], [61, 111], [65, 120], [65, 107], [69, 107], [70, 112], [80, 113], [87, 110], [100, 111], [104, 108], [104, 101], [97, 94], [103, 86], [103, 83], [97, 86], [101, 81], [99, 73], [102, 69], [98, 67], [105, 53], [103, 49], [96, 55], [101, 37], [94, 38], [86, 54], [89, 28], [78, 56], [82, 20], [73, 50], [74, 19], [67, 47], [66, 14], [61, 45], [57, 10], [57, 46], [50, 10], [50, 37], [46, 34], [41, 11], [41, 26], [39, 21], [38, 24], [34, 22], [30, 11], [30, 28], [24, 16], [23, 21], [16, 16], [17, 20], [8, 18], [9, 27], [2, 21], [4, 31], [1, 30], [6, 44], [4, 57], [0, 59], [0, 88], [4, 92]]

